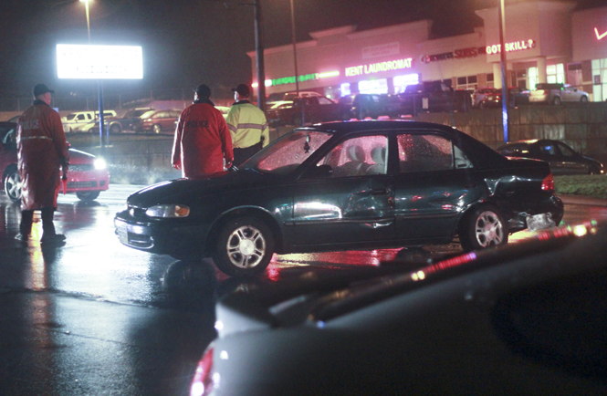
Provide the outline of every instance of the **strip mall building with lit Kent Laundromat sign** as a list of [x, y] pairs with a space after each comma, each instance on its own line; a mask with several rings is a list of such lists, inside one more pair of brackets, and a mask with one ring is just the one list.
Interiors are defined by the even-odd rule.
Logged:
[[[508, 86], [534, 89], [562, 82], [607, 99], [607, 6], [574, 12], [575, 3], [506, 5]], [[443, 80], [454, 89], [501, 88], [497, 7], [477, 10], [474, 33], [430, 39], [432, 21], [356, 31], [342, 26], [310, 33], [296, 45], [299, 90], [332, 99], [351, 93], [399, 93]], [[256, 87], [256, 53], [248, 53]], [[267, 94], [296, 90], [293, 46], [264, 52]]]

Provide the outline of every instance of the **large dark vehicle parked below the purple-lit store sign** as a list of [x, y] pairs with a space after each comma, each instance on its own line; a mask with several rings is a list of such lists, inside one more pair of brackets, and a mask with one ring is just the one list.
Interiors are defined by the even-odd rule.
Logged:
[[399, 97], [403, 114], [472, 109], [472, 98], [467, 90], [454, 90], [441, 81], [426, 81], [407, 86]]

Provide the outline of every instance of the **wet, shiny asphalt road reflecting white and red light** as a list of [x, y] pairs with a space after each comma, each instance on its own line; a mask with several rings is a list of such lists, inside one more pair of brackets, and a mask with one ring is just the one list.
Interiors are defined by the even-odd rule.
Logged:
[[[137, 189], [112, 184], [92, 203], [60, 196], [56, 225], [68, 240], [58, 248], [36, 241], [39, 223], [34, 241], [18, 245], [19, 207], [0, 194], [0, 395], [187, 394], [195, 364], [215, 337], [216, 298], [244, 284], [211, 261], [187, 263], [120, 245], [113, 216]], [[607, 206], [565, 209], [570, 224], [607, 219]], [[255, 282], [459, 252], [451, 244], [275, 255]]]

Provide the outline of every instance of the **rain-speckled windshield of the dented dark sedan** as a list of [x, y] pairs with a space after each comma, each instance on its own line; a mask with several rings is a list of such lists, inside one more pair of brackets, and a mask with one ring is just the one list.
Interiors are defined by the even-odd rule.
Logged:
[[317, 130], [293, 130], [276, 143], [259, 151], [244, 168], [259, 172], [288, 174], [319, 149], [332, 135]]

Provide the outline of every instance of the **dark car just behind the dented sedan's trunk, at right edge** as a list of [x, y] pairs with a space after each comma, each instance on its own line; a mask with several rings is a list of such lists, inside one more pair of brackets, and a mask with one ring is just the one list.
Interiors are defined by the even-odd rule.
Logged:
[[584, 157], [562, 141], [548, 139], [508, 141], [497, 151], [508, 157], [535, 158], [549, 162], [554, 174], [602, 174], [601, 162]]

